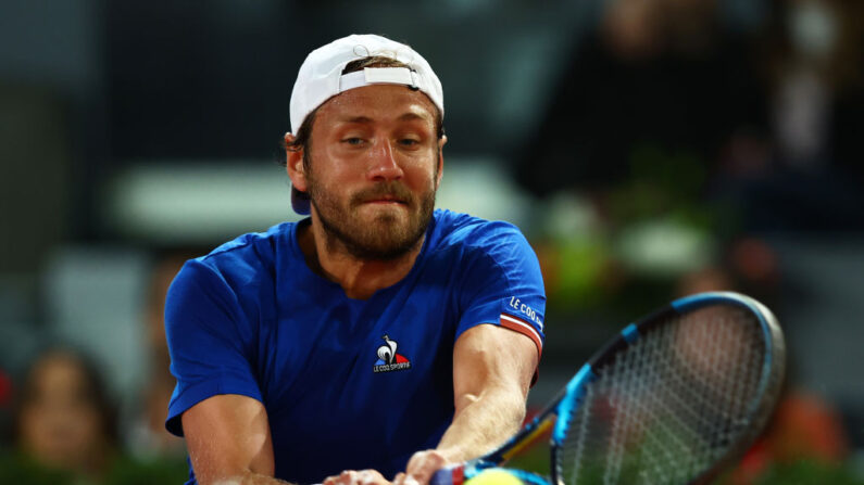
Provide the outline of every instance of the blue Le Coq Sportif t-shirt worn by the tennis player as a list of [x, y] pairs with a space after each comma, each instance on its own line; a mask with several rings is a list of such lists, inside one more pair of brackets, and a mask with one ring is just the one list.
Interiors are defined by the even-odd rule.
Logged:
[[436, 210], [408, 276], [368, 299], [313, 273], [297, 228], [242, 235], [172, 283], [172, 433], [183, 435], [180, 414], [197, 403], [240, 394], [267, 411], [277, 477], [375, 469], [390, 478], [452, 421], [462, 332], [502, 326], [542, 348], [540, 268], [512, 225]]

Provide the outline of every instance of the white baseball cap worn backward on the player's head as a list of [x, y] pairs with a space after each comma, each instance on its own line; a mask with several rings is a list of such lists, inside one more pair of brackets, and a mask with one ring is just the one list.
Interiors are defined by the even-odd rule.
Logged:
[[[408, 67], [366, 67], [355, 73], [342, 74], [352, 61], [368, 56], [390, 58]], [[291, 91], [291, 129], [295, 135], [303, 120], [325, 101], [348, 91], [370, 85], [404, 85], [424, 92], [444, 115], [444, 95], [441, 81], [429, 63], [414, 49], [375, 35], [350, 35], [312, 51], [297, 74]], [[309, 214], [309, 196], [291, 187], [291, 206], [298, 214]]]

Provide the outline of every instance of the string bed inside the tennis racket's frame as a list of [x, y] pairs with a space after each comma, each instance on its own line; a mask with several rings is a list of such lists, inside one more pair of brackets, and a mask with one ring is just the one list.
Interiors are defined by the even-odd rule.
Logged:
[[737, 307], [697, 310], [649, 331], [596, 369], [558, 450], [576, 484], [687, 483], [748, 432], [765, 358]]

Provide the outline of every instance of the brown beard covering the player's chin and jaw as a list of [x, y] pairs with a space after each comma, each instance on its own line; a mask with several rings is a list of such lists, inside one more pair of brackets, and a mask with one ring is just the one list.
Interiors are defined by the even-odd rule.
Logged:
[[364, 224], [325, 194], [310, 189], [312, 205], [327, 238], [327, 250], [345, 251], [356, 259], [388, 261], [404, 256], [420, 243], [435, 210], [435, 191], [430, 191], [417, 201], [420, 212], [410, 215], [404, 225], [391, 214], [381, 214], [374, 224]]

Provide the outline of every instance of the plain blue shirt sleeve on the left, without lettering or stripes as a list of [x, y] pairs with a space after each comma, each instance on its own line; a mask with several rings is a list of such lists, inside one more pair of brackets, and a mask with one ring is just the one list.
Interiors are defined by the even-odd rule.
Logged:
[[251, 331], [235, 291], [198, 259], [187, 261], [165, 298], [165, 333], [177, 386], [165, 427], [183, 436], [180, 416], [220, 394], [262, 400], [250, 359]]

